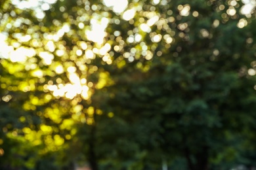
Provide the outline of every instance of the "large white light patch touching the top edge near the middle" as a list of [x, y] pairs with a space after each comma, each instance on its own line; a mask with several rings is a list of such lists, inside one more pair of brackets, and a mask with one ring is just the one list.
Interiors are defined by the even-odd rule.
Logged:
[[106, 7], [112, 7], [112, 10], [116, 13], [123, 12], [128, 5], [127, 0], [104, 0], [103, 3]]

